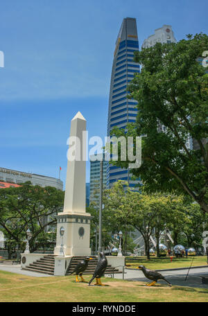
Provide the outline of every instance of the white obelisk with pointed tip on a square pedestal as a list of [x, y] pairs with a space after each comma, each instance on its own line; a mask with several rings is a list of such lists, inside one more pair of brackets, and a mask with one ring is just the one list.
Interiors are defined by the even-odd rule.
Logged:
[[[86, 213], [86, 120], [78, 112], [71, 120], [64, 210], [58, 213], [56, 247], [60, 256], [89, 256], [90, 220]], [[61, 232], [64, 231], [62, 235]]]

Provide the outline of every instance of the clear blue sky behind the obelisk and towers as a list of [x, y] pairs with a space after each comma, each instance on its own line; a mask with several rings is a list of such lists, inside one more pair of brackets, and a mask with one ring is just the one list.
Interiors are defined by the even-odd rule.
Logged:
[[[207, 33], [207, 0], [7, 0], [0, 4], [0, 167], [58, 177], [70, 121], [105, 137], [114, 44], [124, 17], [139, 46], [171, 24], [175, 37]], [[89, 163], [87, 163], [89, 180]]]

